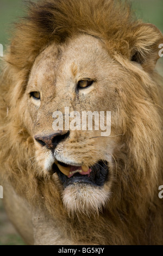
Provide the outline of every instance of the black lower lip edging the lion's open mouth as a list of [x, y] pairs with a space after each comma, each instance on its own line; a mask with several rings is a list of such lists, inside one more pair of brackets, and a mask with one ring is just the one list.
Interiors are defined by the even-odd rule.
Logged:
[[60, 181], [67, 187], [72, 184], [77, 183], [87, 183], [93, 186], [103, 186], [104, 182], [108, 177], [108, 165], [106, 162], [99, 161], [91, 167], [92, 172], [89, 175], [81, 175], [80, 173], [75, 173], [71, 178], [67, 178], [65, 174], [60, 172], [56, 164], [53, 164], [54, 172], [57, 172]]

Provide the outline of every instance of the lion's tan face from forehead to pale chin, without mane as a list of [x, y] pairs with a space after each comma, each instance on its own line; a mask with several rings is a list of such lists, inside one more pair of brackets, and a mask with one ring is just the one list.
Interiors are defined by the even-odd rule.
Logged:
[[[28, 130], [34, 138], [38, 169], [59, 180], [68, 211], [98, 211], [109, 200], [116, 174], [114, 155], [122, 144], [117, 90], [124, 90], [127, 71], [121, 69], [103, 42], [90, 35], [48, 46], [33, 65], [22, 99], [32, 123]], [[53, 113], [60, 111], [65, 121], [65, 107], [80, 114], [111, 111], [111, 135], [101, 136], [100, 129], [54, 130]]]

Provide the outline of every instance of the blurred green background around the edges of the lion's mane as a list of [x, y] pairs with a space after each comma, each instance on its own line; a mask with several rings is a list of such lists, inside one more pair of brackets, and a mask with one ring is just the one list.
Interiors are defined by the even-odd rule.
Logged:
[[[23, 6], [26, 1], [0, 0], [0, 44], [8, 44], [16, 17], [23, 16]], [[137, 17], [145, 22], [156, 25], [163, 33], [163, 0], [131, 0]], [[163, 41], [162, 41], [163, 44]], [[160, 58], [156, 69], [163, 75], [163, 57]], [[5, 215], [3, 199], [0, 199], [0, 245], [24, 245]]]

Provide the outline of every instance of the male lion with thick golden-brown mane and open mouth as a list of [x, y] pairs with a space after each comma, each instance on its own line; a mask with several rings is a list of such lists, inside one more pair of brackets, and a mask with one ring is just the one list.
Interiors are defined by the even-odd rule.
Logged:
[[[1, 80], [0, 183], [26, 243], [163, 242], [161, 43], [124, 1], [30, 4]], [[65, 107], [110, 111], [110, 136], [54, 130]]]

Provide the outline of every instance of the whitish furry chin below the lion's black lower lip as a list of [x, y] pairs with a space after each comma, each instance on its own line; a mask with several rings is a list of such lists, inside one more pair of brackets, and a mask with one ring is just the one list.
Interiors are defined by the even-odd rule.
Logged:
[[74, 216], [98, 215], [105, 208], [110, 192], [108, 187], [95, 187], [90, 184], [76, 183], [67, 186], [62, 192], [62, 202], [68, 214]]

